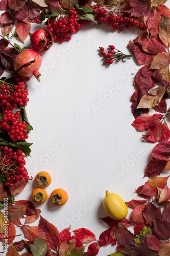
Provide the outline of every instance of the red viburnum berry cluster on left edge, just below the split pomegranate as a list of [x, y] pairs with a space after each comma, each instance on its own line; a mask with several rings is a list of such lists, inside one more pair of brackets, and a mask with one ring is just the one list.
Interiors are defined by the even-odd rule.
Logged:
[[0, 84], [0, 108], [4, 110], [13, 110], [17, 106], [26, 105], [29, 101], [26, 81], [30, 78], [15, 78], [15, 83], [10, 84], [6, 81]]

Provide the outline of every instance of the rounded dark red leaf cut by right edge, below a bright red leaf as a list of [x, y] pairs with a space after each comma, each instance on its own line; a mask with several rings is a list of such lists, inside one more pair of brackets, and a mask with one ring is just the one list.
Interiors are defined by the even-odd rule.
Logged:
[[160, 160], [168, 160], [170, 157], [170, 141], [159, 142], [153, 148], [152, 156]]

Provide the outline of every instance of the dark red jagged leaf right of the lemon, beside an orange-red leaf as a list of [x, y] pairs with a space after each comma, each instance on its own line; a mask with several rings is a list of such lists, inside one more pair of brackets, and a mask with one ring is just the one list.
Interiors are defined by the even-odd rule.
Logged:
[[143, 211], [143, 217], [150, 226], [153, 226], [153, 220], [155, 218], [161, 218], [161, 208], [149, 202]]

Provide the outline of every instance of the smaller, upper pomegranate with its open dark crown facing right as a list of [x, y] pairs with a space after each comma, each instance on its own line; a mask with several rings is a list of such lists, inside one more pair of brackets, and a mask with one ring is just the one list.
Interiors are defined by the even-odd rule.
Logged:
[[44, 52], [52, 47], [54, 38], [50, 31], [38, 29], [31, 35], [30, 42], [36, 51]]

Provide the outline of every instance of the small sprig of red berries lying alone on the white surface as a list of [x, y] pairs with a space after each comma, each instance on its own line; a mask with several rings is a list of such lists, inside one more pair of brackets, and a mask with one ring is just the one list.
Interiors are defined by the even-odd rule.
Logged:
[[104, 58], [106, 58], [105, 61], [103, 62], [104, 64], [110, 65], [113, 63], [114, 60], [115, 62], [118, 62], [120, 60], [125, 62], [126, 61], [125, 58], [133, 57], [133, 55], [131, 54], [124, 54], [120, 50], [117, 50], [113, 45], [109, 45], [110, 51], [105, 50], [104, 47], [99, 47], [99, 48], [101, 50], [100, 53], [104, 55], [103, 56]]

